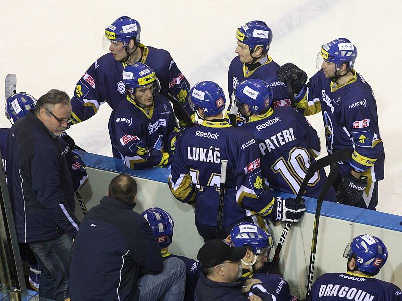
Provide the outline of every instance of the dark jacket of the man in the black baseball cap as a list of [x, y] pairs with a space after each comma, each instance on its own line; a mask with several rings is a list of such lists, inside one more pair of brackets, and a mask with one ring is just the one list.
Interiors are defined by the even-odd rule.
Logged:
[[[197, 287], [195, 287], [194, 301], [245, 301], [248, 294], [241, 292], [243, 282], [221, 283], [215, 282], [201, 273]], [[272, 295], [266, 291], [264, 284], [255, 284], [250, 290], [263, 301], [272, 301]]]

